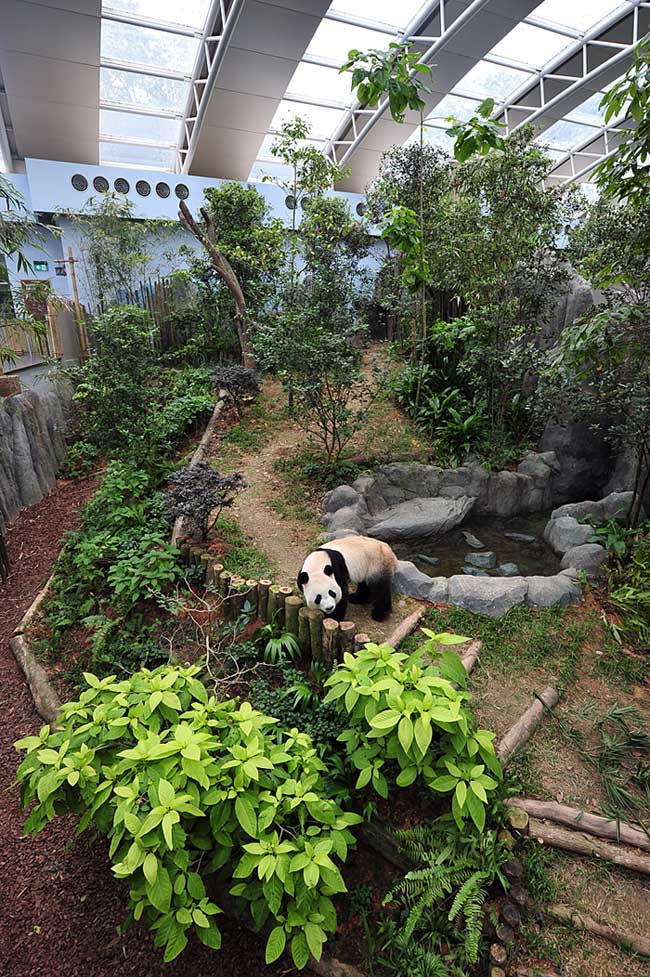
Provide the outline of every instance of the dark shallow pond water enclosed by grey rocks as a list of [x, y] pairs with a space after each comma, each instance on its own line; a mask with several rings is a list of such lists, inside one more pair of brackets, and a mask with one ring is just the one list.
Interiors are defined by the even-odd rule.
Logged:
[[[549, 577], [560, 570], [560, 559], [550, 546], [544, 542], [543, 532], [550, 513], [535, 513], [529, 516], [515, 516], [501, 519], [499, 516], [476, 516], [456, 529], [440, 537], [435, 542], [393, 544], [395, 553], [401, 560], [412, 560], [419, 570], [430, 577], [451, 577], [462, 573], [465, 557], [469, 553], [483, 553], [492, 550], [496, 553], [497, 566], [502, 563], [515, 563], [519, 572], [525, 576], [538, 574]], [[484, 545], [483, 549], [469, 546], [463, 539], [463, 532], [472, 533]], [[526, 533], [535, 537], [533, 543], [523, 543], [509, 539], [504, 533]], [[436, 557], [440, 562], [433, 567], [418, 559], [418, 556]], [[499, 576], [495, 569], [488, 570], [491, 577]]]

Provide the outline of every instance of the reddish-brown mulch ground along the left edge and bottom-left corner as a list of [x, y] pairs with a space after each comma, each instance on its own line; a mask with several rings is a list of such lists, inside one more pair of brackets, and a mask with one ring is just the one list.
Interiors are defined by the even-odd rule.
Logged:
[[23, 838], [18, 794], [12, 788], [14, 740], [41, 726], [9, 638], [47, 579], [63, 534], [75, 527], [92, 481], [58, 482], [23, 512], [8, 533], [12, 572], [0, 584], [0, 975], [1, 977], [280, 977], [286, 962], [264, 964], [260, 940], [223, 920], [223, 947], [198, 941], [163, 964], [146, 929], [125, 935], [127, 889], [110, 871], [103, 839], [75, 838], [75, 819], [57, 819], [36, 838]]

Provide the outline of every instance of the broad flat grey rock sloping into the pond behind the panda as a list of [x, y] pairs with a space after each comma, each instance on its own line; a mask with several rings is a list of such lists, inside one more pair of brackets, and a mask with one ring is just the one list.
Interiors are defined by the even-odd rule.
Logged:
[[387, 543], [435, 539], [461, 523], [471, 512], [474, 501], [464, 496], [402, 502], [382, 513], [381, 520], [368, 530], [368, 535]]

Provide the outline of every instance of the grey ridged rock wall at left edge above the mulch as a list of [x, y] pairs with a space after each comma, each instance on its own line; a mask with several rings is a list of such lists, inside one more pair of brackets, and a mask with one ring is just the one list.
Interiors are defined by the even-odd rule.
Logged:
[[27, 390], [0, 400], [0, 531], [54, 484], [70, 396], [66, 389]]

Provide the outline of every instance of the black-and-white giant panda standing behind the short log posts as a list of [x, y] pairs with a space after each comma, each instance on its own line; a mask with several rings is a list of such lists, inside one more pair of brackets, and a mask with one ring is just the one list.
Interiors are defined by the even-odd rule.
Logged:
[[[397, 557], [387, 543], [368, 536], [345, 536], [310, 553], [298, 574], [307, 606], [336, 621], [345, 619], [348, 600], [372, 604], [372, 617], [383, 621], [392, 610], [391, 585]], [[357, 584], [356, 593], [349, 585]]]

